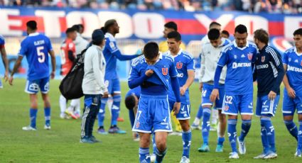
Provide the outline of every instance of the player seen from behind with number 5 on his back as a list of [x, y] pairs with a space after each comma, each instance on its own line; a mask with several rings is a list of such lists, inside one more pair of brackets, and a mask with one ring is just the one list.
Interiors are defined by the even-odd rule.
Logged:
[[[13, 85], [14, 74], [20, 67], [23, 57], [26, 57], [28, 62], [28, 74], [25, 91], [29, 94], [31, 108], [29, 115], [31, 124], [23, 127], [23, 130], [37, 130], [36, 117], [38, 112], [38, 96], [39, 89], [41, 90], [42, 99], [44, 101], [45, 126], [44, 129], [50, 130], [50, 100], [48, 97], [49, 91], [49, 76], [51, 79], [55, 77], [55, 52], [50, 43], [50, 39], [45, 35], [36, 32], [36, 21], [28, 21], [26, 23], [26, 32], [28, 36], [21, 42], [21, 49], [18, 52], [18, 59], [14, 65], [9, 78], [9, 84]], [[49, 73], [48, 53], [51, 58], [52, 72]]]

